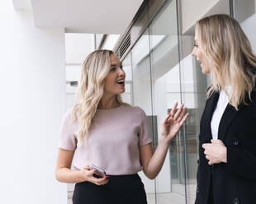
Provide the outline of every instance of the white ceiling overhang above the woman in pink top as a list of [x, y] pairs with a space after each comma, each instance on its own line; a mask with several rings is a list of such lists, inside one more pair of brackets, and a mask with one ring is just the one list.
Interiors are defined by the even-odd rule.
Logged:
[[[16, 0], [12, 0], [14, 7]], [[27, 2], [28, 0], [22, 0]], [[35, 26], [67, 32], [123, 34], [143, 0], [31, 0]]]

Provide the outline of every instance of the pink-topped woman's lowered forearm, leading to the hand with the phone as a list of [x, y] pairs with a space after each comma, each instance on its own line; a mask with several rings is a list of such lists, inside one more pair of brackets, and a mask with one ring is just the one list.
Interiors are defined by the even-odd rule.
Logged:
[[71, 170], [69, 168], [57, 169], [55, 172], [55, 177], [59, 182], [62, 183], [80, 183], [85, 181], [82, 171]]

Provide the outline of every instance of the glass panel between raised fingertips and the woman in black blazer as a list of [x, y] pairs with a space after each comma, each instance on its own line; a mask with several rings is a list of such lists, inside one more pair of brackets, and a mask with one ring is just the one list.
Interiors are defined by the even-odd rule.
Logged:
[[[183, 58], [181, 59], [181, 82], [183, 103], [190, 114], [185, 123], [187, 203], [194, 203], [197, 188], [198, 134], [200, 118], [206, 102], [207, 76], [201, 73], [196, 58], [192, 58], [194, 35], [182, 35]], [[185, 54], [187, 53], [187, 54]], [[209, 76], [208, 76], [209, 78]], [[211, 81], [209, 81], [211, 82]]]

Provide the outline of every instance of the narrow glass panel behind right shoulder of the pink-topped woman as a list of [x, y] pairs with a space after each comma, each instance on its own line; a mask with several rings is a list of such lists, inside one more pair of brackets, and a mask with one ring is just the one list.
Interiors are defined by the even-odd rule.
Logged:
[[[154, 132], [154, 116], [152, 114], [151, 104], [151, 81], [150, 81], [150, 62], [149, 62], [149, 31], [141, 35], [135, 47], [131, 51], [132, 56], [132, 85], [133, 85], [133, 101], [134, 105], [144, 109], [145, 114], [149, 119], [149, 126], [152, 137]], [[155, 139], [154, 139], [155, 140]], [[155, 188], [154, 180], [145, 177], [143, 172], [140, 172], [140, 178], [145, 184], [145, 191], [149, 204], [155, 203]]]

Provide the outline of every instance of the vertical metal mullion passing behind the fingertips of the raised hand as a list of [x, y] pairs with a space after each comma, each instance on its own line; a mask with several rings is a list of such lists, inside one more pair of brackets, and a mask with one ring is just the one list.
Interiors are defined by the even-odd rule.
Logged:
[[[179, 84], [180, 84], [180, 97], [181, 97], [181, 102], [183, 102], [183, 95], [182, 95], [182, 75], [181, 75], [181, 55], [182, 55], [182, 47], [181, 47], [181, 21], [179, 18], [180, 15], [180, 1], [176, 0], [176, 16], [177, 16], [177, 35], [178, 35], [178, 68], [179, 68]], [[183, 126], [183, 132], [182, 132], [182, 137], [183, 137], [183, 155], [184, 155], [184, 160], [183, 160], [183, 165], [184, 165], [184, 183], [185, 183], [185, 201], [187, 201], [187, 144], [186, 144], [186, 128], [185, 125]]]

